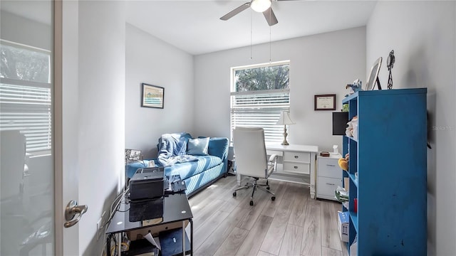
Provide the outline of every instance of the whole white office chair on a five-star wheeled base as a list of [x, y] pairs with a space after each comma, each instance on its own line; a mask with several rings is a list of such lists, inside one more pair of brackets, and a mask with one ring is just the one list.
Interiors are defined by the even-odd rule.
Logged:
[[[236, 192], [253, 188], [250, 197], [250, 205], [254, 205], [254, 193], [257, 188], [266, 191], [272, 195], [271, 200], [276, 200], [274, 193], [269, 191], [268, 178], [277, 166], [277, 155], [271, 155], [269, 160], [266, 155], [266, 146], [264, 145], [264, 129], [237, 127], [233, 130], [234, 154], [236, 154], [236, 172], [244, 176], [254, 178], [253, 182], [247, 182], [245, 186], [236, 188]], [[265, 178], [266, 184], [259, 184], [259, 178]]]

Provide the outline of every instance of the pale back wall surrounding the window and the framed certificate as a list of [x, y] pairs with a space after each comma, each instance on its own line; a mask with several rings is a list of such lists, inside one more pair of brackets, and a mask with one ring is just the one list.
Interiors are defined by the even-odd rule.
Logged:
[[[274, 33], [273, 33], [274, 35]], [[269, 43], [195, 56], [195, 131], [229, 137], [230, 68], [269, 62]], [[346, 84], [366, 80], [366, 28], [322, 33], [271, 43], [271, 61], [290, 60], [290, 144], [320, 150], [341, 148], [332, 134], [332, 111], [314, 111], [314, 95], [336, 94], [336, 111]]]

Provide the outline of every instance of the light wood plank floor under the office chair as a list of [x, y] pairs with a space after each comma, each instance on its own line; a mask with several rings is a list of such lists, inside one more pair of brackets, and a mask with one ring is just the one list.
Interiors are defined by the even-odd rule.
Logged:
[[[243, 178], [242, 185], [248, 178]], [[237, 188], [235, 176], [221, 178], [190, 198], [194, 255], [348, 255], [337, 230], [340, 203], [310, 198], [309, 186], [269, 181], [271, 195]]]

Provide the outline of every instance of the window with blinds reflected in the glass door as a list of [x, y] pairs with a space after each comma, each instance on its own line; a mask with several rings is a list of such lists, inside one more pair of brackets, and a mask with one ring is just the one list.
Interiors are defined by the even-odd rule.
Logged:
[[51, 53], [1, 41], [0, 129], [19, 129], [26, 151], [51, 149]]

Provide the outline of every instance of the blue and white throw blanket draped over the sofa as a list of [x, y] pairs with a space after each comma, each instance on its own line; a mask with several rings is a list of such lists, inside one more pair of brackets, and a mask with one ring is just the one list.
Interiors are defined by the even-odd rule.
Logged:
[[179, 134], [163, 134], [158, 151], [158, 162], [162, 166], [172, 166], [176, 163], [197, 161], [195, 156], [187, 155], [187, 137], [185, 132]]

